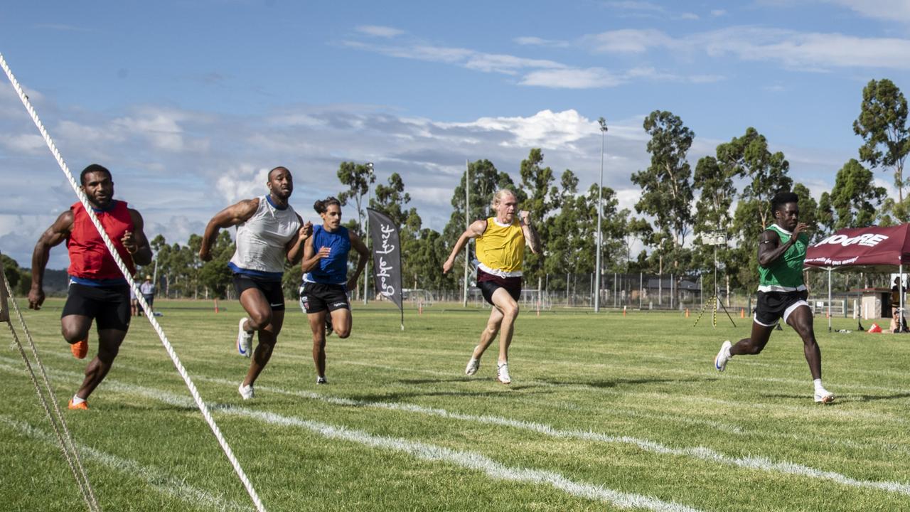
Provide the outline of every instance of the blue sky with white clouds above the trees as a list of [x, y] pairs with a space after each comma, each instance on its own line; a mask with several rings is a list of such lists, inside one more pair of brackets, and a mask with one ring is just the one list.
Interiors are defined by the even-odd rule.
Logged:
[[[0, 14], [0, 52], [69, 166], [106, 165], [147, 233], [182, 242], [276, 165], [315, 220], [339, 162], [373, 161], [437, 230], [466, 159], [517, 180], [541, 147], [587, 188], [601, 116], [604, 182], [632, 208], [654, 109], [693, 129], [693, 166], [757, 128], [817, 197], [856, 156], [865, 83], [910, 87], [908, 25], [885, 0], [32, 2]], [[5, 80], [0, 165], [0, 251], [27, 266], [75, 196]]]

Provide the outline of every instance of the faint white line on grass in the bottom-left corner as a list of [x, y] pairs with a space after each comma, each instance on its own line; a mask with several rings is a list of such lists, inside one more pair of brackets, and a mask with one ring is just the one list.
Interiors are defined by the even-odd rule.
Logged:
[[[17, 421], [10, 416], [0, 415], [0, 424], [5, 424], [13, 430], [16, 430], [19, 433], [27, 435], [33, 439], [44, 441], [47, 444], [56, 445], [56, 437], [53, 435], [50, 435], [49, 433], [35, 426]], [[181, 499], [187, 503], [198, 505], [200, 506], [199, 508], [216, 510], [249, 510], [249, 507], [241, 505], [236, 501], [226, 500], [223, 497], [211, 495], [204, 490], [198, 489], [197, 487], [189, 486], [184, 483], [183, 480], [174, 476], [170, 476], [167, 472], [155, 467], [142, 466], [135, 460], [108, 454], [101, 450], [96, 450], [95, 448], [92, 448], [88, 445], [76, 444], [76, 448], [79, 450], [79, 453], [82, 454], [82, 456], [86, 456], [91, 460], [108, 466], [111, 469], [114, 469], [115, 471], [126, 474], [128, 476], [136, 476], [142, 480], [145, 480], [149, 486], [157, 490], [159, 493], [170, 497], [176, 497], [177, 499]]]

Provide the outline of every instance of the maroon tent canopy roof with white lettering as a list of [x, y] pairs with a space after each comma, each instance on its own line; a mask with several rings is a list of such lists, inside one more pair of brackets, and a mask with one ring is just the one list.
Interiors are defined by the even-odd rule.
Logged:
[[848, 228], [809, 246], [807, 267], [896, 267], [910, 263], [910, 224]]

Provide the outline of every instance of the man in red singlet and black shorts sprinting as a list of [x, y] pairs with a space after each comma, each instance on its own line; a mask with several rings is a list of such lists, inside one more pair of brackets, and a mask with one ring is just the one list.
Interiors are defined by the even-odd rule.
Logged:
[[[107, 236], [130, 274], [136, 264], [152, 261], [152, 249], [143, 232], [142, 216], [114, 200], [114, 181], [109, 170], [97, 164], [79, 175], [82, 189]], [[64, 211], [41, 235], [32, 254], [32, 289], [28, 307], [41, 309], [45, 266], [51, 248], [66, 241], [69, 251], [69, 292], [60, 318], [61, 331], [70, 350], [79, 359], [88, 353], [88, 329], [95, 321], [98, 352], [88, 366], [82, 386], [69, 401], [70, 409], [87, 409], [86, 399], [111, 369], [120, 343], [129, 329], [129, 285], [105, 247], [81, 202]]]

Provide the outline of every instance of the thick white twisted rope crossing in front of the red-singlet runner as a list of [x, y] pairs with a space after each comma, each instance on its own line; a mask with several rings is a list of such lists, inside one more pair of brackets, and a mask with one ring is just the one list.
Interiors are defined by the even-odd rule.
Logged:
[[[60, 170], [66, 175], [66, 179], [69, 180], [70, 186], [73, 190], [76, 191], [76, 196], [79, 197], [79, 201], [82, 202], [83, 208], [86, 209], [89, 219], [92, 220], [92, 223], [95, 224], [98, 234], [101, 235], [102, 240], [105, 241], [107, 251], [110, 251], [111, 256], [114, 257], [117, 267], [123, 273], [126, 278], [126, 282], [129, 283], [130, 288], [133, 289], [133, 292], [136, 294], [136, 299], [142, 305], [144, 311], [150, 312], [151, 308], [148, 306], [145, 297], [142, 296], [142, 293], [139, 292], [136, 287], [136, 282], [133, 281], [133, 276], [130, 275], [129, 271], [126, 269], [126, 264], [120, 259], [120, 255], [117, 253], [114, 248], [114, 244], [111, 242], [110, 238], [107, 236], [104, 227], [101, 226], [101, 222], [95, 215], [95, 212], [92, 210], [91, 205], [88, 203], [86, 194], [79, 189], [79, 185], [76, 183], [76, 179], [73, 178], [73, 174], [69, 171], [69, 168], [66, 166], [66, 162], [63, 160], [63, 157], [60, 156], [60, 152], [57, 151], [54, 141], [50, 138], [50, 135], [47, 134], [44, 124], [41, 123], [41, 119], [38, 118], [35, 108], [32, 107], [31, 102], [28, 101], [28, 97], [25, 96], [22, 87], [19, 87], [19, 82], [16, 81], [13, 76], [13, 72], [10, 70], [9, 66], [6, 65], [6, 59], [3, 54], [0, 53], [0, 67], [3, 67], [3, 70], [6, 73], [6, 77], [9, 78], [9, 81], [13, 84], [16, 94], [19, 95], [19, 99], [22, 100], [22, 104], [25, 106], [25, 110], [28, 111], [28, 114], [32, 117], [32, 120], [35, 121], [35, 126], [38, 128], [38, 131], [41, 132], [42, 137], [45, 138], [45, 143], [47, 148], [51, 150], [51, 153], [54, 155], [54, 158], [57, 161], [57, 165], [60, 166]], [[256, 489], [253, 488], [253, 484], [250, 483], [247, 474], [244, 473], [243, 468], [240, 467], [240, 463], [237, 460], [237, 457], [234, 456], [233, 450], [230, 449], [230, 446], [227, 445], [227, 441], [224, 436], [221, 435], [221, 430], [218, 428], [218, 425], [215, 423], [215, 419], [212, 417], [211, 413], [208, 411], [208, 407], [205, 402], [202, 401], [202, 397], [199, 395], [199, 392], [196, 389], [196, 384], [193, 384], [192, 379], [189, 378], [187, 370], [183, 367], [183, 364], [180, 363], [180, 359], [177, 357], [177, 353], [174, 352], [174, 347], [171, 346], [170, 342], [167, 341], [167, 336], [164, 331], [161, 329], [161, 326], [158, 325], [157, 320], [155, 320], [154, 314], [147, 314], [146, 318], [148, 322], [152, 324], [152, 328], [155, 329], [155, 332], [158, 333], [158, 338], [161, 340], [161, 344], [164, 345], [167, 355], [170, 356], [171, 361], [174, 363], [174, 366], [177, 368], [177, 372], [183, 377], [184, 383], [187, 384], [189, 388], [189, 393], [193, 395], [193, 400], [196, 401], [197, 406], [199, 407], [199, 412], [202, 413], [202, 416], [206, 418], [206, 423], [209, 428], [212, 429], [212, 433], [215, 434], [215, 438], [218, 440], [218, 445], [221, 445], [221, 449], [224, 450], [227, 460], [230, 461], [231, 466], [234, 467], [234, 471], [237, 473], [237, 476], [240, 478], [240, 481], [243, 483], [243, 486], [247, 488], [247, 493], [249, 497], [252, 498], [253, 503], [256, 505], [256, 508], [259, 512], [265, 512], [266, 507], [262, 504], [262, 501], [259, 499]]]

